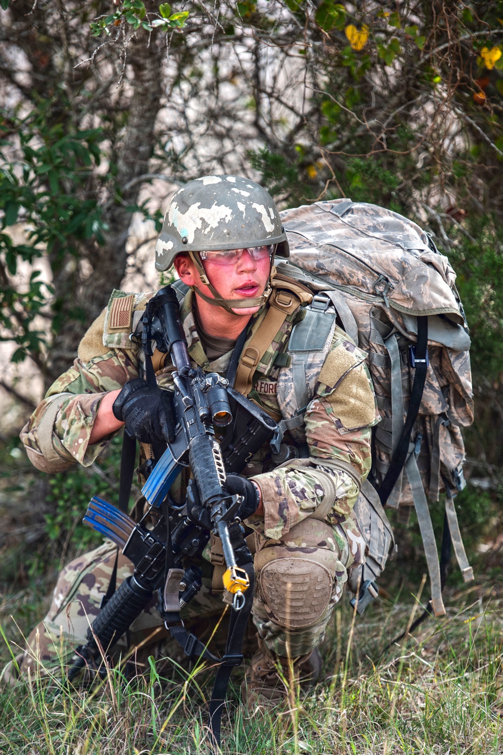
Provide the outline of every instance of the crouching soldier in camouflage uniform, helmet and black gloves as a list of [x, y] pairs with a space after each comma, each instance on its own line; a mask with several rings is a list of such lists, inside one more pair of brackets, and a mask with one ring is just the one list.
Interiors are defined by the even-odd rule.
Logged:
[[[170, 202], [156, 246], [156, 268], [168, 270], [174, 263], [189, 288], [180, 313], [193, 362], [225, 375], [247, 328], [235, 388], [276, 421], [291, 419], [293, 366], [287, 348], [313, 300], [307, 288], [276, 274], [275, 257], [289, 254], [271, 197], [235, 176], [207, 176], [183, 186]], [[130, 337], [151, 296], [113, 291], [84, 335], [78, 359], [32, 414], [21, 438], [38, 469], [89, 466], [124, 424], [142, 442], [143, 457], [152, 454], [152, 444], [164, 442], [173, 365], [159, 354], [154, 359], [158, 387], [149, 387], [142, 379], [140, 339]], [[316, 680], [317, 647], [348, 569], [364, 558], [352, 508], [370, 470], [370, 427], [379, 414], [365, 354], [334, 318], [330, 322], [325, 343], [317, 344], [306, 368], [305, 414], [286, 423], [284, 442], [302, 458], [278, 465], [267, 446], [247, 464], [244, 476], [228, 477], [229, 491], [244, 495], [240, 513], [255, 533], [258, 649], [244, 685], [249, 710], [276, 706], [284, 698], [281, 666], [293, 662], [297, 678]], [[185, 499], [186, 482], [173, 490], [178, 501]], [[85, 643], [114, 562], [115, 547], [106, 542], [63, 569], [48, 615], [18, 658], [22, 675], [66, 664], [72, 648]], [[117, 584], [132, 570], [119, 556]], [[210, 570], [207, 563], [203, 589], [182, 618], [222, 612]], [[155, 602], [130, 627], [130, 643], [143, 643], [149, 653], [167, 634]], [[121, 643], [124, 649], [124, 639]], [[11, 666], [5, 678], [15, 676]]]

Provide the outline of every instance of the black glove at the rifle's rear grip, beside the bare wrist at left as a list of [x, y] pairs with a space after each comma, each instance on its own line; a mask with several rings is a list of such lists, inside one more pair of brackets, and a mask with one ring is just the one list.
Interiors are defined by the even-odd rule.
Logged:
[[112, 405], [114, 417], [142, 443], [173, 442], [175, 439], [171, 391], [150, 386], [141, 377], [124, 385]]

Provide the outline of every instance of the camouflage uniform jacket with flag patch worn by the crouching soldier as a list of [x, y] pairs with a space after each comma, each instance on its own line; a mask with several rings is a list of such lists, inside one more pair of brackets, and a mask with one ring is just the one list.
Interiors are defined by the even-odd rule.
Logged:
[[[138, 313], [144, 310], [151, 296], [124, 291], [112, 293], [108, 307], [84, 335], [78, 359], [51, 386], [21, 432], [35, 467], [54, 472], [75, 462], [89, 466], [112, 439], [111, 435], [94, 445], [89, 444], [103, 393], [121, 388], [133, 377], [143, 374], [143, 350], [130, 334], [139, 322]], [[244, 350], [267, 309], [265, 304], [250, 320]], [[278, 354], [284, 356], [287, 350], [300, 310], [298, 307], [287, 316], [253, 375], [250, 398], [277, 419], [281, 417], [277, 400], [281, 366], [275, 362]], [[181, 317], [193, 362], [205, 371], [225, 374], [232, 352], [213, 362], [207, 361], [195, 328], [190, 292], [182, 302]], [[330, 495], [333, 509], [327, 522], [334, 531], [339, 525], [350, 535], [354, 555], [356, 550], [363, 550], [363, 540], [351, 510], [361, 481], [370, 470], [370, 427], [379, 421], [365, 356], [344, 331], [335, 328], [324, 365], [316, 376], [314, 398], [305, 413], [309, 461], [288, 462], [275, 468], [270, 449], [262, 448], [244, 470], [262, 491], [265, 518], [252, 517], [249, 523], [263, 537], [279, 539], [286, 535]], [[169, 357], [166, 362], [164, 366], [158, 365], [156, 377], [160, 387], [169, 389], [173, 365]], [[285, 364], [285, 360], [278, 362]], [[339, 538], [336, 536], [336, 539]]]

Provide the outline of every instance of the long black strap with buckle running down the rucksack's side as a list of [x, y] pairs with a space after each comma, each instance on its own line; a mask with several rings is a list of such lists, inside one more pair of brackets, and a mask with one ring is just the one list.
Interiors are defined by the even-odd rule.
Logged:
[[410, 392], [409, 408], [407, 409], [407, 415], [405, 424], [403, 425], [402, 434], [398, 441], [397, 448], [394, 451], [391, 464], [389, 465], [388, 472], [385, 479], [382, 480], [382, 484], [379, 487], [378, 493], [381, 503], [385, 506], [388, 501], [389, 495], [397, 482], [400, 472], [405, 464], [407, 453], [409, 451], [410, 434], [413, 431], [414, 423], [421, 406], [422, 393], [425, 389], [426, 372], [428, 371], [428, 317], [418, 317], [418, 340], [416, 344], [416, 374], [414, 375], [413, 388]]

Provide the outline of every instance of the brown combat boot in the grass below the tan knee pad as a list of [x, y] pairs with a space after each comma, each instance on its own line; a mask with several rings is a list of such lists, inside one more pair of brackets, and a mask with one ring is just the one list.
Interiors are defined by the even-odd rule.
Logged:
[[289, 658], [275, 655], [259, 639], [259, 650], [253, 655], [241, 685], [241, 699], [250, 714], [265, 708], [274, 708], [278, 713], [281, 708], [289, 707], [289, 693], [295, 694], [299, 683], [312, 685], [320, 673], [321, 656], [317, 648], [296, 658], [292, 666]]

